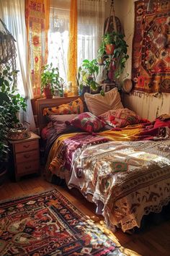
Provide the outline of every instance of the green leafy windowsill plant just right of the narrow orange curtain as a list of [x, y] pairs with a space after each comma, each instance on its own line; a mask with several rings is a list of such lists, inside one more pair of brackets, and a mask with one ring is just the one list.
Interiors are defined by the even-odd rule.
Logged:
[[77, 84], [82, 94], [85, 92], [90, 93], [91, 90], [97, 90], [97, 88], [99, 88], [99, 84], [97, 83], [98, 74], [99, 65], [97, 64], [97, 59], [93, 59], [92, 61], [84, 59], [76, 77]]

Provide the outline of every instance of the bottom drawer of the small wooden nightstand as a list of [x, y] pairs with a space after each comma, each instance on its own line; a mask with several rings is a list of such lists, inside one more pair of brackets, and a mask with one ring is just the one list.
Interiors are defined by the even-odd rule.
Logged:
[[29, 174], [39, 169], [39, 160], [32, 162], [18, 163], [17, 174]]

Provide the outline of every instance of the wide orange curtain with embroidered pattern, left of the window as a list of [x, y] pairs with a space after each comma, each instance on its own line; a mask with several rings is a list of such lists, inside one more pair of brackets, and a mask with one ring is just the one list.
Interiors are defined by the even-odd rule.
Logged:
[[40, 69], [48, 61], [50, 0], [25, 0], [29, 66], [34, 98], [40, 98]]

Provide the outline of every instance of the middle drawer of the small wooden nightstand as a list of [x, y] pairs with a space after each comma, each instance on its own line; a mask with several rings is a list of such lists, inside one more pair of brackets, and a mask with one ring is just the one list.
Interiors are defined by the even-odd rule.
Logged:
[[24, 163], [26, 161], [34, 161], [39, 159], [39, 152], [38, 150], [27, 151], [23, 153], [16, 154], [16, 162], [17, 163]]

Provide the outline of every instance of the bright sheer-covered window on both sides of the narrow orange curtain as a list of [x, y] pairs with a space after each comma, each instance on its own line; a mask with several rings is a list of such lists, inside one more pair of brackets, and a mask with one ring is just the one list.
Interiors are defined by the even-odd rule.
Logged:
[[[51, 1], [48, 64], [58, 67], [67, 82], [70, 0]], [[84, 59], [97, 58], [104, 24], [104, 1], [78, 0], [78, 67]]]

